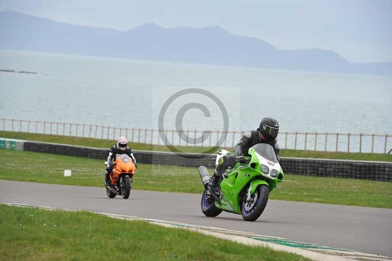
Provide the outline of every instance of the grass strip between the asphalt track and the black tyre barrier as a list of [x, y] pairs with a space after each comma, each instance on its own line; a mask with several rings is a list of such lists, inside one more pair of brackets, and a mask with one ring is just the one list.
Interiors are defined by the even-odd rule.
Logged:
[[[0, 179], [103, 187], [102, 160], [0, 149]], [[64, 169], [72, 177], [64, 177]], [[212, 172], [212, 171], [210, 171]], [[392, 208], [392, 183], [285, 174], [270, 199]], [[203, 192], [196, 168], [138, 164], [133, 189]]]

